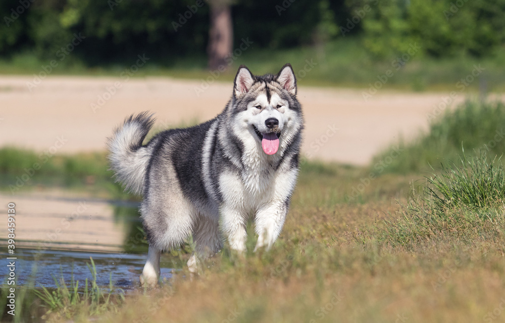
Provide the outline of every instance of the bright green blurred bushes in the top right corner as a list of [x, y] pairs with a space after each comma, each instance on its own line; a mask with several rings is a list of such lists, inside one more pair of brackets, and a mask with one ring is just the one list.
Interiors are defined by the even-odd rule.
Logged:
[[[362, 2], [353, 1], [357, 6]], [[417, 42], [435, 57], [489, 56], [505, 43], [505, 0], [367, 0], [365, 47], [377, 57], [405, 53]]]

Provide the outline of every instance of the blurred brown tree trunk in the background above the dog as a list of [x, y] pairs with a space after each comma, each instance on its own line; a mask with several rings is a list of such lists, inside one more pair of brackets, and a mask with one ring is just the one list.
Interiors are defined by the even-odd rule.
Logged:
[[231, 9], [227, 0], [210, 0], [211, 26], [209, 31], [209, 69], [223, 70], [228, 67], [225, 58], [233, 46]]

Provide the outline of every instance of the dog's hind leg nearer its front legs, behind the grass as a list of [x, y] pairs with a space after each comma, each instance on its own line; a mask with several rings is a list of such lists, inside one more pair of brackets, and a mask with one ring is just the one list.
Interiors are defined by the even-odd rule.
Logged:
[[219, 217], [217, 214], [199, 214], [193, 228], [194, 253], [188, 260], [190, 272], [198, 271], [199, 260], [213, 256], [221, 249], [221, 235], [219, 233]]

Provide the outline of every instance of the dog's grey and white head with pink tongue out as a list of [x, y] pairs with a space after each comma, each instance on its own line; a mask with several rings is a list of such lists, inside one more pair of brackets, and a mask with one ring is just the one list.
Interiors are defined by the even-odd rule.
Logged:
[[[296, 78], [290, 64], [277, 75], [253, 75], [240, 66], [233, 87], [231, 113], [235, 132], [250, 135], [267, 155], [284, 150], [301, 130], [301, 106], [296, 100]], [[247, 140], [250, 142], [250, 140]]]

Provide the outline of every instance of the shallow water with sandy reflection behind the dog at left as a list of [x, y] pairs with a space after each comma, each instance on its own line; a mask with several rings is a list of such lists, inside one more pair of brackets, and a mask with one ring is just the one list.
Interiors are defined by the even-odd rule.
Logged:
[[[5, 197], [16, 203], [16, 287], [57, 288], [56, 280], [67, 286], [92, 280], [88, 268], [93, 259], [96, 283], [125, 291], [139, 286], [138, 276], [147, 258], [147, 243], [142, 232], [137, 203], [68, 198], [61, 195]], [[7, 214], [6, 204], [0, 212]], [[6, 225], [7, 228], [7, 225]], [[0, 248], [7, 251], [7, 229], [0, 230]], [[9, 267], [0, 266], [0, 286], [6, 287]], [[178, 257], [163, 254], [161, 280], [170, 280]], [[11, 287], [11, 286], [9, 286]]]

